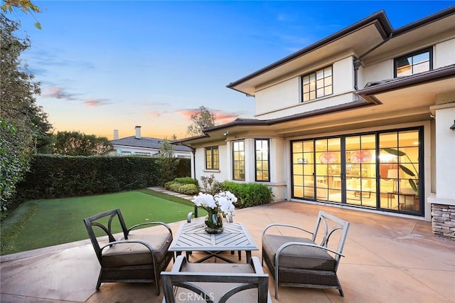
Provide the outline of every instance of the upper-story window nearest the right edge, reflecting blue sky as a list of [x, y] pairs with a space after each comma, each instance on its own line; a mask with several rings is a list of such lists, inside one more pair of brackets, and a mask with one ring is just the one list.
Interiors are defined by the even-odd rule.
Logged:
[[433, 48], [395, 58], [395, 78], [427, 72], [433, 69]]

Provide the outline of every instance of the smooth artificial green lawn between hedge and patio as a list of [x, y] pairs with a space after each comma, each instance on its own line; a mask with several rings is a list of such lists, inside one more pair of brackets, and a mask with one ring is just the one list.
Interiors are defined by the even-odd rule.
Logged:
[[194, 210], [191, 201], [147, 189], [28, 201], [2, 223], [1, 255], [87, 239], [82, 220], [114, 208], [120, 208], [127, 227], [144, 222], [186, 220], [187, 214]]

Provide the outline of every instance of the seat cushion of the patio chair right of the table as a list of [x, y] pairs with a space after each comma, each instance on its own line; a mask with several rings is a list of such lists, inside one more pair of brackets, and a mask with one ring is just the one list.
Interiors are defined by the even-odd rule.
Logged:
[[[288, 242], [312, 243], [308, 238], [284, 235], [263, 235], [262, 252], [275, 266], [275, 255], [278, 248]], [[292, 245], [284, 248], [279, 256], [279, 267], [294, 267], [304, 270], [335, 270], [335, 260], [326, 250], [308, 246]]]

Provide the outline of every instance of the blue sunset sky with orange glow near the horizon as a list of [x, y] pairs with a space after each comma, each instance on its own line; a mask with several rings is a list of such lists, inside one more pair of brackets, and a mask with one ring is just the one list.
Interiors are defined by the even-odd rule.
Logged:
[[[2, 1], [3, 2], [3, 1]], [[216, 124], [255, 117], [226, 85], [384, 10], [394, 29], [455, 1], [32, 1], [14, 11], [53, 131], [187, 137], [200, 106]], [[38, 21], [42, 29], [33, 24]]]

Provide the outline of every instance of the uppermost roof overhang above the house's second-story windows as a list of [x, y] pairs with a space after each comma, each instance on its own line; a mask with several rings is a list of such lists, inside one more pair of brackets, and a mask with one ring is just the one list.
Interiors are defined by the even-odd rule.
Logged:
[[232, 82], [227, 87], [247, 95], [255, 95], [258, 89], [267, 87], [268, 83], [291, 78], [305, 66], [311, 66], [333, 55], [349, 51], [353, 55], [362, 57], [363, 62], [367, 62], [379, 52], [387, 53], [402, 47], [403, 38], [412, 43], [422, 41], [422, 37], [432, 37], [440, 31], [452, 31], [454, 24], [455, 6], [397, 28], [395, 31], [385, 12], [379, 11], [311, 46]]

